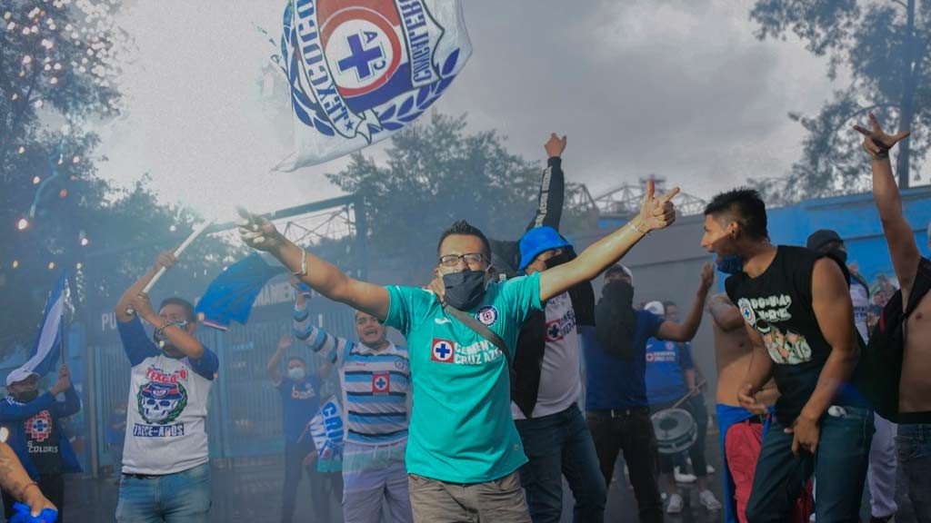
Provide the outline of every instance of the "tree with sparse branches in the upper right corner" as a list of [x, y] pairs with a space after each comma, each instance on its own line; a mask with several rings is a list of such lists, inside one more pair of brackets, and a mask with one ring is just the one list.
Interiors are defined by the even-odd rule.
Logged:
[[[750, 19], [757, 36], [795, 34], [817, 56], [828, 56], [828, 74], [850, 72], [851, 82], [834, 93], [816, 116], [790, 114], [808, 137], [803, 158], [782, 181], [756, 181], [768, 195], [785, 201], [862, 191], [869, 187], [857, 133], [851, 130], [866, 114], [908, 129], [929, 121], [927, 43], [931, 41], [931, 3], [918, 0], [757, 0]], [[894, 128], [896, 126], [889, 126]], [[899, 186], [909, 186], [912, 168], [920, 166], [931, 135], [912, 133], [897, 156]]]

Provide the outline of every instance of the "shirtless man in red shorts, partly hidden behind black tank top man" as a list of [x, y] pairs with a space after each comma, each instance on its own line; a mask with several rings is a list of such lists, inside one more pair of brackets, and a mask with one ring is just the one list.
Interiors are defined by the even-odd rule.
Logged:
[[[762, 448], [762, 417], [740, 406], [737, 391], [747, 377], [753, 346], [744, 328], [744, 318], [727, 294], [712, 296], [708, 300], [708, 313], [714, 320], [714, 359], [718, 368], [716, 401], [724, 460], [724, 521], [747, 523], [744, 512]], [[772, 381], [756, 395], [757, 401], [767, 408], [776, 404], [778, 396]], [[800, 519], [804, 520], [807, 517]]]

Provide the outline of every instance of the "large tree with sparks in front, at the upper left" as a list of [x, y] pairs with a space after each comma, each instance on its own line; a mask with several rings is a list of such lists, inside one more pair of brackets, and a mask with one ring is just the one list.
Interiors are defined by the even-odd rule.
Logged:
[[[93, 0], [0, 7], [0, 357], [32, 345], [62, 269], [79, 309], [88, 295], [114, 297], [196, 218], [159, 205], [144, 181], [115, 192], [97, 177], [105, 158], [94, 157], [99, 138], [88, 123], [118, 114], [115, 78], [130, 44], [115, 8]], [[226, 249], [200, 242], [185, 262], [215, 272]]]

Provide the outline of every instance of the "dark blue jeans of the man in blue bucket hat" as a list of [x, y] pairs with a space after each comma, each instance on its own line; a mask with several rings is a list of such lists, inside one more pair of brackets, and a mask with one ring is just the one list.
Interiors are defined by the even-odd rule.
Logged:
[[574, 520], [603, 521], [608, 493], [595, 443], [578, 407], [573, 404], [556, 414], [515, 423], [530, 460], [520, 467], [520, 483], [533, 522], [560, 521], [562, 476], [573, 490]]

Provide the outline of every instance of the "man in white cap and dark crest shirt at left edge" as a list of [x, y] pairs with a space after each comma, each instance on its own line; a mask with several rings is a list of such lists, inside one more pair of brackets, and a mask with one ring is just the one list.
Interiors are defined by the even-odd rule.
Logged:
[[[71, 384], [71, 372], [62, 365], [58, 381], [48, 392], [39, 394], [40, 376], [30, 369], [15, 369], [7, 376], [7, 396], [0, 401], [0, 425], [7, 429], [7, 444], [20, 458], [23, 468], [48, 500], [59, 509], [59, 521], [64, 516], [64, 477], [66, 473], [81, 472], [62, 432], [61, 418], [81, 409], [81, 399]], [[64, 395], [59, 401], [56, 396]], [[4, 493], [4, 512], [7, 520], [15, 512], [16, 500]]]

